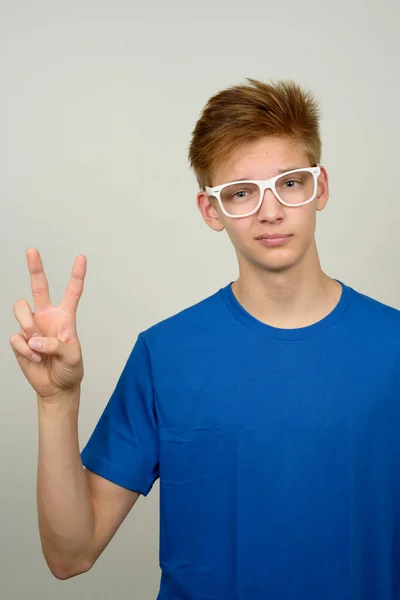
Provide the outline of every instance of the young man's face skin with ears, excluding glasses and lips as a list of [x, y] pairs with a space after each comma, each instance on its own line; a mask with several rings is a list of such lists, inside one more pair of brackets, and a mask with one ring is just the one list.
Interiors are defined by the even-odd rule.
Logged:
[[[270, 179], [282, 170], [310, 167], [303, 144], [282, 137], [265, 137], [237, 149], [216, 170], [210, 187], [239, 179]], [[248, 217], [232, 219], [222, 212], [217, 200], [199, 192], [197, 204], [203, 219], [215, 231], [226, 230], [244, 269], [283, 272], [310, 260], [315, 249], [316, 211], [328, 201], [328, 176], [321, 167], [316, 198], [303, 206], [281, 204], [266, 190], [259, 210]], [[258, 238], [265, 234], [289, 235], [283, 244], [270, 245]]]

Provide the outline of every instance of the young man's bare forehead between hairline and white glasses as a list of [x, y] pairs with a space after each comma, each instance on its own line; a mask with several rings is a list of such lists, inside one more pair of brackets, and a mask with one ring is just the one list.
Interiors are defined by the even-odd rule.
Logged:
[[238, 179], [269, 179], [282, 170], [310, 166], [300, 140], [264, 137], [232, 152], [215, 170], [212, 185]]

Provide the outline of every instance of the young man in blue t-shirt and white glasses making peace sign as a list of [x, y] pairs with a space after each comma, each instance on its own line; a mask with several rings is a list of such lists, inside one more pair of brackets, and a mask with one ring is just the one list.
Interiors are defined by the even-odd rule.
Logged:
[[12, 344], [38, 393], [39, 524], [57, 577], [91, 568], [159, 478], [159, 600], [400, 597], [400, 312], [321, 269], [318, 128], [295, 83], [249, 80], [209, 100], [190, 161], [239, 277], [139, 334], [81, 455], [86, 263], [57, 313], [69, 327], [52, 307], [50, 331], [28, 251], [41, 311], [18, 306]]

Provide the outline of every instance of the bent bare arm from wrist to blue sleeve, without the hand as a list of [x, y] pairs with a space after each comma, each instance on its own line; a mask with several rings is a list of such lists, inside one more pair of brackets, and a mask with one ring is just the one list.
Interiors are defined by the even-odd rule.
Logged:
[[40, 539], [53, 575], [68, 579], [93, 566], [140, 494], [84, 469], [78, 392], [54, 403], [38, 398], [38, 409]]

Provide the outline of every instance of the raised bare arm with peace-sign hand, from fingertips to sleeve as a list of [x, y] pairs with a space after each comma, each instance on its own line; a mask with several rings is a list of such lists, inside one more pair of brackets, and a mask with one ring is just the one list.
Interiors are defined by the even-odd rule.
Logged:
[[79, 454], [83, 360], [76, 311], [86, 257], [76, 258], [59, 306], [51, 303], [38, 250], [29, 248], [26, 257], [35, 311], [25, 300], [14, 304], [20, 333], [10, 343], [38, 401], [37, 506], [43, 553], [52, 573], [67, 579], [91, 568], [139, 494], [85, 471]]

